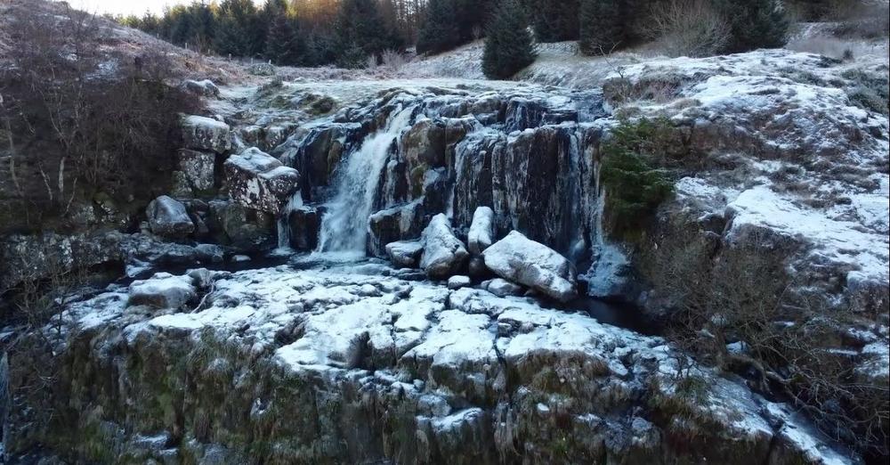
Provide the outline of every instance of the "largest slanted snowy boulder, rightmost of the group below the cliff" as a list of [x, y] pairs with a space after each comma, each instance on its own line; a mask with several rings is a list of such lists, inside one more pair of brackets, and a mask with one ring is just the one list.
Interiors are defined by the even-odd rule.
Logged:
[[522, 232], [506, 238], [482, 252], [485, 265], [506, 280], [518, 282], [547, 296], [567, 302], [575, 298], [575, 266], [554, 249], [531, 241]]

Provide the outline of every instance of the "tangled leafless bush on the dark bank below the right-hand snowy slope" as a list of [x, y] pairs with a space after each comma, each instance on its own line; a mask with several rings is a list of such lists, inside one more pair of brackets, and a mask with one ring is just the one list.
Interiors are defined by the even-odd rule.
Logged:
[[789, 399], [826, 436], [886, 454], [887, 387], [863, 381], [838, 350], [853, 312], [797, 292], [782, 254], [756, 245], [767, 241], [755, 235], [750, 245], [723, 249], [714, 241], [662, 241], [643, 269], [676, 308], [669, 339], [702, 362], [747, 373], [752, 387]]

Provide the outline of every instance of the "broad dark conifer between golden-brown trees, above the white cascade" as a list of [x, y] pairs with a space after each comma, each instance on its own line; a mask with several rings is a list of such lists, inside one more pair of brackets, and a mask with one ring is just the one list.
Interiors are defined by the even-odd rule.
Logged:
[[401, 40], [384, 26], [376, 0], [343, 0], [336, 19], [337, 61], [359, 68], [368, 56], [401, 48]]

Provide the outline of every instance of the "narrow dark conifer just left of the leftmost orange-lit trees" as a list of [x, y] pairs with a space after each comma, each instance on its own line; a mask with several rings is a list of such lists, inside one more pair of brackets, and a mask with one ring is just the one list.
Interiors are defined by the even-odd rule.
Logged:
[[300, 33], [299, 23], [287, 11], [285, 0], [268, 0], [263, 16], [268, 25], [265, 57], [277, 65], [303, 64], [306, 43]]

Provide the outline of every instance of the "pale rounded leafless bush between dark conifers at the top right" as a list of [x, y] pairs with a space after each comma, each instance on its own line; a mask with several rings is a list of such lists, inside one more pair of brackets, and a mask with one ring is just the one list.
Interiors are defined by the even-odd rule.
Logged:
[[672, 57], [716, 55], [730, 39], [728, 22], [707, 0], [655, 3], [645, 32]]

